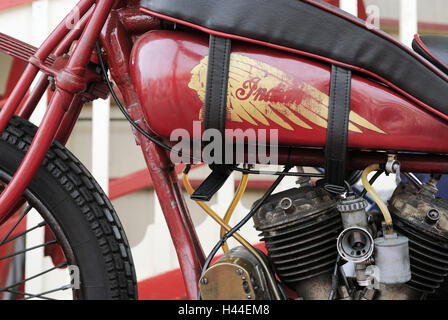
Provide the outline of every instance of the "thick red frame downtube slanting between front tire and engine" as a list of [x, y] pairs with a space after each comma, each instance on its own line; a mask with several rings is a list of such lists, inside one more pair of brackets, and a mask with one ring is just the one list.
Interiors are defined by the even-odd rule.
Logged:
[[[154, 22], [154, 27], [159, 25]], [[143, 118], [142, 108], [137, 99], [131, 81], [129, 60], [132, 42], [131, 36], [123, 27], [116, 12], [111, 12], [101, 34], [101, 44], [105, 49], [110, 73], [123, 95], [128, 112], [137, 123], [149, 131]], [[141, 134], [134, 131], [141, 145], [155, 191], [173, 239], [179, 264], [182, 269], [185, 287], [189, 299], [198, 295], [198, 280], [205, 255], [184, 203], [177, 174], [164, 150], [161, 150]]]

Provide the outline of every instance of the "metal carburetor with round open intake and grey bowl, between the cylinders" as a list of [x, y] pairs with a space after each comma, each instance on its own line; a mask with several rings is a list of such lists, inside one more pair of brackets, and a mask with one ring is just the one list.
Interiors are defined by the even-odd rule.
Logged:
[[338, 252], [354, 264], [361, 288], [354, 291], [354, 298], [407, 299], [407, 294], [400, 294], [406, 292], [403, 284], [411, 278], [408, 238], [369, 223], [367, 206], [367, 201], [355, 194], [340, 199], [337, 205], [344, 225], [337, 240]]

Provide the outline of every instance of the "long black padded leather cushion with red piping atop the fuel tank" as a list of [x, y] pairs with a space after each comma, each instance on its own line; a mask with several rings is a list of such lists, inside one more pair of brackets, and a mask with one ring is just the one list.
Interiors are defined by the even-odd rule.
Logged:
[[[229, 37], [307, 52], [374, 74], [448, 115], [448, 76], [411, 49], [320, 0], [142, 0], [154, 14]], [[179, 22], [179, 23], [182, 23]]]

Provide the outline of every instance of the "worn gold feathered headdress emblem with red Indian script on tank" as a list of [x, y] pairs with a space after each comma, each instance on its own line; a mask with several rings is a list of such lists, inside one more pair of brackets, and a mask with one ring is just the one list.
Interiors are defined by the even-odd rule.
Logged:
[[[208, 56], [191, 71], [188, 87], [205, 101]], [[227, 92], [227, 119], [234, 122], [259, 123], [272, 121], [294, 131], [294, 126], [313, 129], [313, 124], [327, 128], [327, 94], [264, 62], [240, 54], [231, 54]], [[203, 108], [199, 118], [203, 119]], [[365, 118], [350, 111], [349, 130], [362, 133], [362, 128], [386, 134]]]

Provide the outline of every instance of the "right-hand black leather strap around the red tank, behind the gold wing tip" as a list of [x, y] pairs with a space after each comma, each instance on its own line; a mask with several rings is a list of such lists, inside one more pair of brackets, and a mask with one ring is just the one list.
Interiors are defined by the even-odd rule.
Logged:
[[332, 66], [325, 145], [325, 175], [326, 182], [336, 186], [344, 186], [351, 79], [350, 70]]

